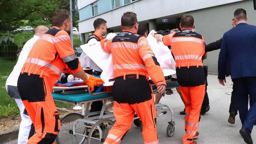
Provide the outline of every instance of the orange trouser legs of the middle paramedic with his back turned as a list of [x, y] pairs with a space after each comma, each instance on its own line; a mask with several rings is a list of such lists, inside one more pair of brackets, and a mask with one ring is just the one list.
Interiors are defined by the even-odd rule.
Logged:
[[154, 99], [146, 102], [128, 104], [114, 101], [115, 125], [110, 129], [104, 144], [119, 144], [132, 126], [134, 113], [137, 113], [143, 123], [143, 138], [145, 144], [159, 144], [156, 131], [156, 107]]

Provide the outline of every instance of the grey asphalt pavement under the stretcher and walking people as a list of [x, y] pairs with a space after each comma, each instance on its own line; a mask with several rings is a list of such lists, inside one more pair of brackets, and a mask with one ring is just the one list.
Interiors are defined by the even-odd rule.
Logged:
[[[184, 109], [184, 104], [180, 100], [180, 96], [173, 89], [174, 94], [165, 95], [161, 99], [161, 103], [169, 105], [174, 111], [175, 133], [173, 137], [167, 137], [166, 128], [170, 118], [170, 112], [157, 118], [157, 131], [160, 144], [182, 144], [182, 136], [184, 135], [184, 116], [180, 115], [180, 111]], [[208, 96], [210, 100], [210, 111], [201, 116], [198, 131], [200, 137], [197, 138], [198, 144], [245, 144], [243, 138], [239, 134], [241, 129], [241, 121], [239, 114], [236, 116], [236, 124], [228, 123], [228, 110], [230, 105], [230, 94], [232, 92], [232, 81], [227, 78], [226, 86], [218, 83], [217, 76], [208, 76]], [[161, 113], [163, 110], [158, 110]], [[252, 140], [256, 142], [256, 130], [252, 130]], [[17, 140], [7, 142], [5, 144], [15, 144]], [[143, 136], [139, 127], [132, 124], [132, 128], [128, 131], [121, 144], [143, 144]]]

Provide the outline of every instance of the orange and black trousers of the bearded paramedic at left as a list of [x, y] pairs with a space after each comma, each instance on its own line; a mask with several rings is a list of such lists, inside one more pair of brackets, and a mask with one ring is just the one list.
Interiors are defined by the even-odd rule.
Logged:
[[[40, 87], [39, 89], [45, 90], [44, 98], [36, 94], [31, 94], [30, 96], [30, 94], [26, 94], [30, 89], [24, 89], [26, 86], [21, 86], [22, 81], [26, 80], [27, 76], [27, 73], [20, 74], [18, 87], [22, 102], [35, 126], [35, 134], [28, 140], [28, 144], [54, 144], [54, 140], [60, 129], [60, 120], [59, 113], [52, 98], [52, 91], [50, 90], [52, 81], [48, 78], [43, 78], [44, 88], [40, 87], [42, 85], [38, 83], [40, 85], [38, 86]], [[33, 90], [31, 91], [33, 92]], [[40, 92], [40, 90], [38, 91]], [[24, 92], [26, 92], [26, 95]]]

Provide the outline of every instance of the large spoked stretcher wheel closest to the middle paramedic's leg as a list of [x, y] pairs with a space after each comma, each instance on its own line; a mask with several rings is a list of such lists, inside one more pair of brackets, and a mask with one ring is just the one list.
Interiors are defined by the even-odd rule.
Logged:
[[109, 119], [102, 119], [96, 122], [88, 134], [87, 144], [103, 144], [108, 136], [109, 130], [114, 124]]

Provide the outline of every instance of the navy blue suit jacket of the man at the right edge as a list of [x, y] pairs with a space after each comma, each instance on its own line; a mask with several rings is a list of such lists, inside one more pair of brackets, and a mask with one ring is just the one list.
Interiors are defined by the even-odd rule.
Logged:
[[225, 78], [227, 59], [231, 78], [256, 77], [256, 26], [239, 23], [223, 35], [218, 61], [218, 78]]

